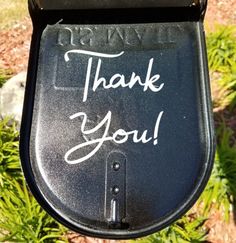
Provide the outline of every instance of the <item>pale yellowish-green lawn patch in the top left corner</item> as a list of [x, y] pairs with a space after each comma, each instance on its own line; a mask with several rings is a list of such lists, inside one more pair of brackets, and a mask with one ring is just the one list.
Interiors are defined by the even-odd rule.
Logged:
[[27, 0], [1, 0], [0, 10], [0, 29], [9, 28], [27, 16]]

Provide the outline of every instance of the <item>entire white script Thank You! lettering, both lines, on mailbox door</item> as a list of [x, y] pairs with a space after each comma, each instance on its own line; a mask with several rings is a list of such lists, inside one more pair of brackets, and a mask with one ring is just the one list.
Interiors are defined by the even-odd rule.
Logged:
[[[75, 50], [67, 51], [65, 53], [64, 59], [66, 62], [70, 61], [69, 56], [71, 54], [90, 56], [88, 58], [86, 78], [84, 81], [83, 102], [86, 102], [88, 99], [89, 87], [91, 86], [90, 84], [92, 84], [93, 92], [96, 92], [98, 88], [103, 88], [105, 90], [116, 89], [116, 88], [132, 89], [135, 85], [139, 85], [142, 87], [143, 92], [149, 90], [151, 92], [157, 93], [160, 92], [164, 87], [164, 83], [160, 83], [159, 85], [157, 84], [157, 82], [160, 80], [160, 74], [152, 75], [154, 58], [149, 59], [149, 63], [147, 64], [147, 72], [146, 72], [145, 80], [142, 80], [141, 76], [137, 75], [134, 71], [131, 73], [131, 75], [129, 76], [130, 78], [128, 78], [128, 80], [124, 74], [120, 74], [120, 73], [115, 73], [109, 78], [109, 80], [107, 80], [105, 77], [103, 77], [100, 74], [102, 58], [105, 59], [119, 58], [122, 55], [124, 55], [124, 52], [120, 52], [117, 54], [106, 54], [106, 53], [75, 49]], [[97, 61], [95, 75], [91, 75], [94, 57], [99, 57], [99, 58]], [[92, 77], [93, 80], [91, 80]], [[80, 120], [82, 119], [80, 131], [82, 133], [85, 142], [77, 144], [71, 149], [69, 149], [65, 153], [64, 159], [68, 164], [71, 165], [80, 164], [90, 159], [94, 155], [96, 155], [96, 153], [103, 146], [103, 144], [109, 141], [116, 144], [123, 144], [132, 138], [133, 143], [142, 143], [142, 144], [153, 143], [153, 146], [156, 146], [158, 144], [159, 127], [160, 127], [160, 122], [162, 120], [163, 114], [164, 111], [161, 111], [158, 114], [153, 131], [149, 131], [148, 129], [142, 132], [138, 130], [125, 131], [124, 129], [120, 128], [112, 134], [111, 133], [111, 122], [112, 122], [111, 111], [108, 111], [105, 117], [92, 129], [86, 128], [88, 127], [88, 121], [89, 121], [86, 113], [84, 112], [75, 113], [74, 115], [70, 116], [70, 119], [71, 120], [74, 120], [76, 118]], [[93, 140], [87, 139], [88, 136], [95, 137], [95, 134], [98, 133], [102, 135], [100, 135], [100, 137], [95, 138]], [[112, 134], [112, 136], [110, 136], [110, 134]], [[84, 149], [84, 151], [89, 151], [89, 152], [86, 155], [84, 155], [83, 153], [79, 152], [82, 149]], [[81, 154], [81, 156], [79, 156], [78, 154]]]

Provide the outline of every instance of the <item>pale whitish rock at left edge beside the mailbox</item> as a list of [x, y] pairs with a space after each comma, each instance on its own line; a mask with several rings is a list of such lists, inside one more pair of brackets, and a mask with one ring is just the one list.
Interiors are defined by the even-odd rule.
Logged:
[[26, 75], [26, 72], [17, 74], [0, 89], [1, 116], [12, 116], [19, 123], [22, 116]]

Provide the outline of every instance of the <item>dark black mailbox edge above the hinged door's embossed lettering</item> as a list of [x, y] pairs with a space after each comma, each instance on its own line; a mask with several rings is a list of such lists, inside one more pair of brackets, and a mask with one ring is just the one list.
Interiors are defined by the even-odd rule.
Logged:
[[77, 1], [28, 0], [35, 26], [64, 23], [145, 23], [199, 21], [207, 0]]

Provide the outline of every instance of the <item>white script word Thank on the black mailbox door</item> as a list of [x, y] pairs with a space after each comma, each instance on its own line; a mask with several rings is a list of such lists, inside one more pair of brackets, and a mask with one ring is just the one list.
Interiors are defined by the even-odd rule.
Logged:
[[100, 77], [100, 70], [102, 65], [101, 58], [118, 58], [124, 54], [124, 52], [120, 52], [118, 54], [105, 54], [99, 52], [92, 52], [86, 50], [70, 50], [67, 51], [64, 55], [64, 59], [66, 62], [70, 61], [69, 54], [78, 54], [78, 55], [88, 55], [92, 56], [88, 59], [87, 65], [87, 73], [84, 85], [84, 94], [83, 94], [83, 102], [87, 101], [88, 92], [89, 92], [89, 84], [91, 82], [91, 70], [93, 64], [93, 57], [99, 57], [96, 67], [96, 72], [93, 80], [92, 91], [96, 92], [96, 90], [102, 86], [103, 89], [116, 89], [119, 87], [132, 89], [136, 84], [143, 87], [143, 91], [151, 90], [152, 92], [160, 92], [164, 83], [157, 85], [157, 81], [160, 79], [160, 74], [152, 75], [152, 68], [154, 63], [154, 58], [151, 58], [148, 63], [146, 78], [142, 80], [139, 75], [135, 72], [132, 72], [130, 78], [126, 80], [124, 74], [115, 73], [109, 80], [106, 80], [105, 77]]

